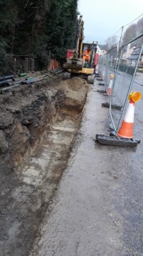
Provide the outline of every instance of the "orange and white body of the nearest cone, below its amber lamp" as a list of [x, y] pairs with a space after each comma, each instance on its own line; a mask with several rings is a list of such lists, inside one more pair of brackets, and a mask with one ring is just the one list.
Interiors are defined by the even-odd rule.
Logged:
[[119, 129], [118, 136], [123, 138], [133, 138], [133, 127], [134, 127], [134, 102], [129, 101], [127, 112], [124, 116], [122, 126]]

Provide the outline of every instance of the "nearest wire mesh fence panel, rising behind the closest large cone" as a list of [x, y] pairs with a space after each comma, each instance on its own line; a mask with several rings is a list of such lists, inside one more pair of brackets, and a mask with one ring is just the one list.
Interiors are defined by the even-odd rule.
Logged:
[[[136, 45], [136, 47], [134, 47]], [[137, 67], [143, 55], [143, 34], [122, 47], [113, 47], [99, 56], [99, 75], [104, 81], [105, 96], [109, 99], [112, 135], [118, 136], [132, 91]], [[104, 71], [104, 76], [103, 76]], [[111, 81], [111, 75], [112, 77]], [[107, 99], [106, 99], [107, 100]]]

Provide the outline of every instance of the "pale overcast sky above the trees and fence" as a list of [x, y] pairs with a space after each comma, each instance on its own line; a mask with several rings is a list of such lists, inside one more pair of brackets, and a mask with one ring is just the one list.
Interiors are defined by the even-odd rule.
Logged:
[[[79, 0], [78, 6], [84, 20], [84, 42], [104, 44], [122, 26], [143, 14], [143, 0]], [[117, 35], [120, 33], [121, 30]]]

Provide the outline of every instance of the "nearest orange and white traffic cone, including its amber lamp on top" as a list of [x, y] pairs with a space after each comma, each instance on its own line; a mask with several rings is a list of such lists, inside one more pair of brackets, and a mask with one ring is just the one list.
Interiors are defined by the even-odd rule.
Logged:
[[142, 94], [139, 92], [133, 92], [129, 95], [129, 106], [124, 116], [122, 126], [119, 129], [118, 136], [123, 138], [133, 138], [133, 127], [134, 127], [134, 105], [135, 102], [139, 101]]

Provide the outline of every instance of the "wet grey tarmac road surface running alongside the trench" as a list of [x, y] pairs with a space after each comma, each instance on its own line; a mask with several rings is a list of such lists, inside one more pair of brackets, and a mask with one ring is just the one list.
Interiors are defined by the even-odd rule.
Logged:
[[102, 107], [105, 96], [97, 88], [96, 81], [69, 164], [29, 255], [143, 255], [143, 100], [134, 116], [134, 137], [141, 139], [137, 149], [99, 145], [96, 134], [109, 133], [109, 109]]

